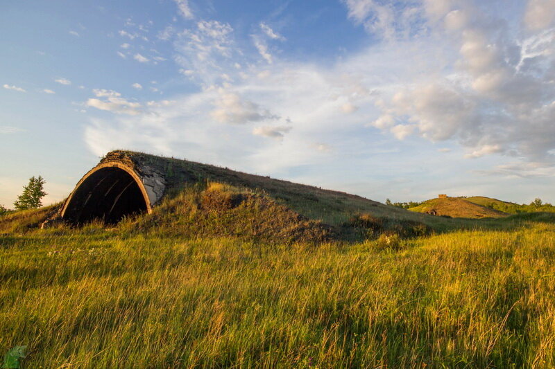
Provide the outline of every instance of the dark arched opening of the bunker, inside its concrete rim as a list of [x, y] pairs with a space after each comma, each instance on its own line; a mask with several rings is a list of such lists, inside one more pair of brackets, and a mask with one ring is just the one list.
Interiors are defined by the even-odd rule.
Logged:
[[89, 175], [69, 199], [63, 218], [73, 224], [102, 219], [115, 224], [126, 215], [147, 210], [135, 178], [116, 167], [101, 168]]

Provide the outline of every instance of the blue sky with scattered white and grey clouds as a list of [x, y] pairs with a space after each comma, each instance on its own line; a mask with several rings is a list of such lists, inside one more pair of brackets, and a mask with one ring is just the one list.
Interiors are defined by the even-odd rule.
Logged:
[[0, 204], [110, 150], [555, 203], [555, 0], [3, 0]]

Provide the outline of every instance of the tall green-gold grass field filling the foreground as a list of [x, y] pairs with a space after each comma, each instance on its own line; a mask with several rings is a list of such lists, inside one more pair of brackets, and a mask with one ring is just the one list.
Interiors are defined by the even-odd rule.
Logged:
[[553, 368], [553, 219], [497, 228], [287, 246], [10, 233], [0, 351], [27, 345], [23, 368]]

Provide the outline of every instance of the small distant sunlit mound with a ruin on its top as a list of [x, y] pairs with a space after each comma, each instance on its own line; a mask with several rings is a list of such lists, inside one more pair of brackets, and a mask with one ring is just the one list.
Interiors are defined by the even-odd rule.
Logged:
[[466, 199], [447, 197], [446, 199], [431, 199], [409, 210], [417, 213], [434, 213], [454, 218], [499, 218], [506, 216], [498, 210], [493, 210], [474, 204]]

